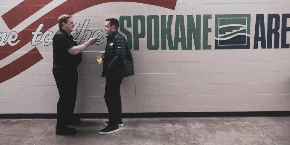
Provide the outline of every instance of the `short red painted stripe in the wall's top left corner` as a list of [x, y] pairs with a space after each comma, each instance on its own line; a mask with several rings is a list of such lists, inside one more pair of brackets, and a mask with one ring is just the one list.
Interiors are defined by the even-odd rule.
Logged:
[[53, 0], [24, 0], [19, 5], [3, 14], [2, 18], [11, 30], [52, 1]]

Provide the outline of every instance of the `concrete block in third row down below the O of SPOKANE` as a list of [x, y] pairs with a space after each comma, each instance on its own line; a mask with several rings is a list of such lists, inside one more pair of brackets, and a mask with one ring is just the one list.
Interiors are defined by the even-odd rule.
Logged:
[[169, 84], [169, 73], [147, 74], [148, 85]]

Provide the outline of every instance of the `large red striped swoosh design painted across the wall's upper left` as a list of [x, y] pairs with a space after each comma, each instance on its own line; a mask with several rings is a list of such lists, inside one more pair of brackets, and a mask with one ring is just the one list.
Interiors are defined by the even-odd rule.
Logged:
[[[56, 6], [53, 10], [44, 14], [36, 21], [32, 22], [29, 26], [19, 31], [18, 33], [15, 33], [13, 31], [10, 34], [7, 34], [5, 32], [1, 33], [0, 40], [1, 42], [3, 41], [3, 46], [0, 47], [0, 61], [10, 56], [17, 50], [21, 49], [27, 43], [30, 43], [34, 36], [32, 32], [35, 32], [37, 28], [39, 28], [39, 30], [37, 30], [38, 32], [41, 31], [44, 34], [47, 30], [56, 25], [58, 16], [61, 14], [73, 15], [79, 11], [85, 10], [86, 8], [107, 2], [137, 2], [148, 5], [156, 5], [159, 7], [174, 10], [176, 7], [176, 1], [177, 0], [166, 0], [166, 1], [90, 0], [90, 2], [84, 1], [87, 2], [86, 5], [82, 1], [67, 0], [62, 4]], [[35, 14], [37, 11], [41, 10], [46, 5], [49, 5], [50, 2], [53, 2], [53, 0], [45, 0], [45, 1], [24, 0], [19, 5], [15, 6], [11, 10], [3, 14], [1, 17], [3, 18], [3, 21], [11, 31], [13, 30], [14, 27], [18, 26], [27, 18], [31, 17], [31, 15]], [[47, 32], [47, 34], [51, 35], [50, 32]], [[37, 50], [37, 47], [34, 47], [29, 52], [25, 53], [23, 56], [17, 58], [16, 60], [7, 64], [6, 66], [0, 68], [0, 83], [7, 81], [8, 79], [11, 79], [14, 76], [17, 76], [18, 74], [30, 68], [31, 66], [33, 66], [42, 59], [43, 56], [41, 56], [40, 52]]]

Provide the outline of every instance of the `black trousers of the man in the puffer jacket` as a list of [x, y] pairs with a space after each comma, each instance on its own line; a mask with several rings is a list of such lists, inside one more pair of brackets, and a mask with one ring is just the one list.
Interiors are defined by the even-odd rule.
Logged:
[[109, 111], [109, 122], [117, 126], [117, 121], [121, 121], [122, 102], [120, 86], [123, 78], [114, 78], [112, 75], [106, 75], [105, 102]]

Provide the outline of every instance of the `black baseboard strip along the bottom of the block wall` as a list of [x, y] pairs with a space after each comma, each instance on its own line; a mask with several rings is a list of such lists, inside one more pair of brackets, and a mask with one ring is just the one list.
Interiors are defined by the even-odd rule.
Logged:
[[[79, 118], [108, 118], [108, 113], [80, 113]], [[290, 116], [290, 111], [251, 112], [154, 112], [122, 113], [123, 118], [173, 118], [173, 117], [280, 117]], [[56, 114], [0, 114], [0, 119], [55, 119]]]

